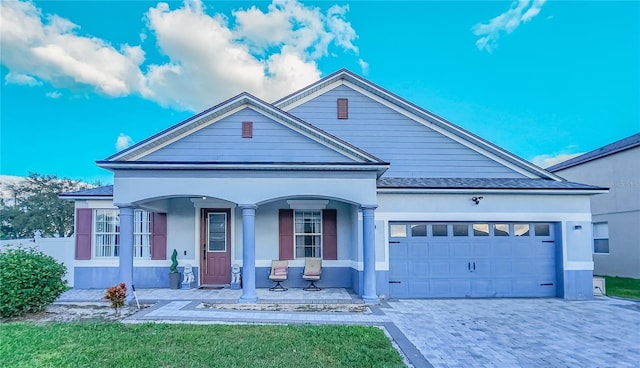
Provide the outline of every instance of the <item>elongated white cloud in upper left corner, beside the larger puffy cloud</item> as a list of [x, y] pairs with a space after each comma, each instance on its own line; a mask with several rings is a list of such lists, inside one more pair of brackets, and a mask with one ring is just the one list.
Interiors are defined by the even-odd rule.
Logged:
[[29, 2], [0, 3], [0, 60], [11, 72], [35, 76], [57, 87], [89, 86], [123, 96], [142, 82], [144, 53], [76, 34], [80, 27], [57, 15], [43, 16]]

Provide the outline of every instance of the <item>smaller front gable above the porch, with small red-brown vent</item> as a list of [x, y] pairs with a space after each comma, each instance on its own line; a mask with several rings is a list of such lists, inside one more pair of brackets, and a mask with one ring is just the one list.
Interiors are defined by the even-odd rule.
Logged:
[[[255, 121], [256, 132], [265, 134], [260, 139], [242, 141], [241, 123], [245, 120]], [[235, 132], [231, 133], [233, 130]], [[225, 137], [216, 134], [235, 134], [235, 138], [225, 145]], [[269, 134], [275, 134], [275, 137]], [[287, 150], [296, 151], [296, 154], [287, 154]], [[309, 154], [304, 153], [307, 150], [310, 150]], [[304, 162], [312, 157], [316, 157], [313, 162], [384, 164], [377, 157], [248, 93], [205, 110], [98, 164], [184, 163], [185, 158], [188, 162], [208, 164]]]

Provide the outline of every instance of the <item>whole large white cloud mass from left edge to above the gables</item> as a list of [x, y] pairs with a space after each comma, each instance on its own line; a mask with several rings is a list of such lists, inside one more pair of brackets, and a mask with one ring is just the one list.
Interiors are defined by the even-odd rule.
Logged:
[[[141, 46], [115, 47], [80, 34], [80, 26], [43, 15], [29, 2], [0, 2], [0, 61], [11, 73], [56, 88], [88, 87], [108, 96], [138, 94], [163, 106], [197, 111], [243, 91], [275, 100], [320, 78], [317, 61], [334, 47], [354, 56], [356, 31], [347, 6], [325, 13], [295, 0], [273, 0], [209, 14], [199, 0], [145, 14], [141, 42], [156, 45], [166, 63], [145, 64]], [[230, 26], [229, 23], [232, 25]], [[145, 35], [145, 36], [142, 36]], [[360, 60], [363, 72], [368, 65]], [[24, 79], [24, 78], [23, 78]]]

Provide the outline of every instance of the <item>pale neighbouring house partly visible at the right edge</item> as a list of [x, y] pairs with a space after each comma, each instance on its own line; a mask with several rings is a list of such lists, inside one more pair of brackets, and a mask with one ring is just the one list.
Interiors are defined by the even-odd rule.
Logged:
[[640, 133], [547, 170], [610, 188], [591, 197], [594, 273], [640, 279]]

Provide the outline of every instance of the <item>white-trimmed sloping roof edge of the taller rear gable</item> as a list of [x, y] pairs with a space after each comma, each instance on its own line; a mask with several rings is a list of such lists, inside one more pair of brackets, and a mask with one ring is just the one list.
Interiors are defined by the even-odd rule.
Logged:
[[528, 173], [527, 176], [538, 177], [538, 178], [546, 178], [551, 180], [563, 180], [561, 177], [546, 171], [545, 169], [538, 167], [531, 162], [518, 157], [496, 145], [493, 143], [447, 121], [446, 119], [430, 112], [422, 107], [405, 100], [404, 98], [352, 73], [347, 69], [341, 69], [333, 74], [328, 75], [327, 77], [300, 89], [276, 102], [273, 104], [278, 108], [288, 110], [293, 106], [296, 106], [297, 103], [300, 103], [301, 100], [309, 98], [317, 93], [321, 93], [327, 89], [332, 88], [332, 86], [337, 86], [340, 84], [346, 84], [347, 86], [355, 86], [361, 90], [370, 93], [387, 103], [395, 105], [400, 109], [412, 114], [413, 116], [422, 119], [428, 124], [433, 125], [432, 128], [440, 129], [441, 131], [447, 132], [451, 136], [456, 137], [456, 139], [461, 143], [466, 143], [467, 145], [476, 148], [479, 152], [485, 152], [485, 154], [493, 155], [498, 157], [505, 162], [519, 168], [521, 171]]

